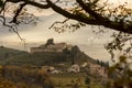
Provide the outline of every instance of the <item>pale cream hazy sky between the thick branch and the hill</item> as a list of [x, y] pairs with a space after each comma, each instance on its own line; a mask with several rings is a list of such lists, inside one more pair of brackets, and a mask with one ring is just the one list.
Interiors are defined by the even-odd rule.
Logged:
[[[123, 2], [124, 0], [111, 0]], [[33, 9], [33, 8], [32, 8]], [[64, 18], [54, 11], [45, 10], [42, 13], [37, 13], [32, 10], [31, 12], [40, 16], [37, 25], [21, 25], [19, 28], [20, 35], [25, 38], [26, 47], [38, 46], [44, 44], [47, 38], [53, 37], [55, 42], [66, 42], [68, 44], [78, 45], [81, 51], [94, 58], [109, 61], [110, 55], [105, 50], [103, 45], [110, 40], [111, 32], [95, 34], [91, 31], [91, 26], [87, 25], [77, 30], [74, 33], [61, 33], [58, 34], [54, 30], [48, 30], [53, 22], [63, 20]], [[97, 26], [92, 29], [98, 29]], [[4, 45], [12, 48], [23, 50], [23, 44], [14, 33], [10, 33], [3, 26], [0, 26], [0, 45]]]

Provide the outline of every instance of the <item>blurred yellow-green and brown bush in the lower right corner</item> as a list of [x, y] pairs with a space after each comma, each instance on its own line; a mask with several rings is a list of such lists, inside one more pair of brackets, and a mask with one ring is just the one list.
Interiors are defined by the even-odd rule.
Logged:
[[[112, 77], [113, 88], [131, 88], [132, 87], [132, 70], [131, 64], [127, 62], [128, 57], [122, 55], [119, 57], [120, 62], [109, 68], [108, 75]], [[110, 86], [110, 85], [109, 85]]]

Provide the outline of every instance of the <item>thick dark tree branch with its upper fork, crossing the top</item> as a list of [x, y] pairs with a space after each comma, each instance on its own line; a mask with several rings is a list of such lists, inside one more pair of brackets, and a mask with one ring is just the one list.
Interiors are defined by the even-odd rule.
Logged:
[[132, 34], [132, 24], [131, 23], [128, 24], [128, 23], [123, 22], [122, 20], [117, 22], [117, 21], [110, 20], [109, 16], [102, 16], [101, 14], [97, 13], [95, 10], [90, 9], [88, 7], [88, 4], [85, 4], [82, 0], [76, 0], [76, 1], [88, 14], [94, 16], [94, 19], [91, 19], [87, 15], [82, 16], [80, 14], [70, 13], [70, 12], [62, 9], [61, 7], [56, 6], [55, 2], [52, 2], [51, 0], [45, 0], [45, 4], [32, 1], [32, 0], [7, 0], [7, 1], [12, 2], [12, 3], [25, 2], [26, 4], [37, 7], [40, 9], [52, 8], [55, 12], [57, 12], [66, 18], [69, 18], [69, 19], [73, 19], [73, 20], [76, 20], [79, 22], [84, 22], [86, 24], [103, 25], [105, 28], [109, 28], [111, 30]]

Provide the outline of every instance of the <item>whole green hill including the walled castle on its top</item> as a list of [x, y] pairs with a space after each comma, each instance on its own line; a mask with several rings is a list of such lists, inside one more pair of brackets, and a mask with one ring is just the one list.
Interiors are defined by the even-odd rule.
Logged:
[[65, 64], [70, 66], [74, 64], [99, 64], [97, 61], [86, 55], [77, 45], [66, 43], [54, 43], [53, 38], [38, 47], [31, 47], [31, 53], [22, 52], [8, 47], [0, 47], [0, 58], [3, 65], [35, 65], [35, 66], [57, 66]]

